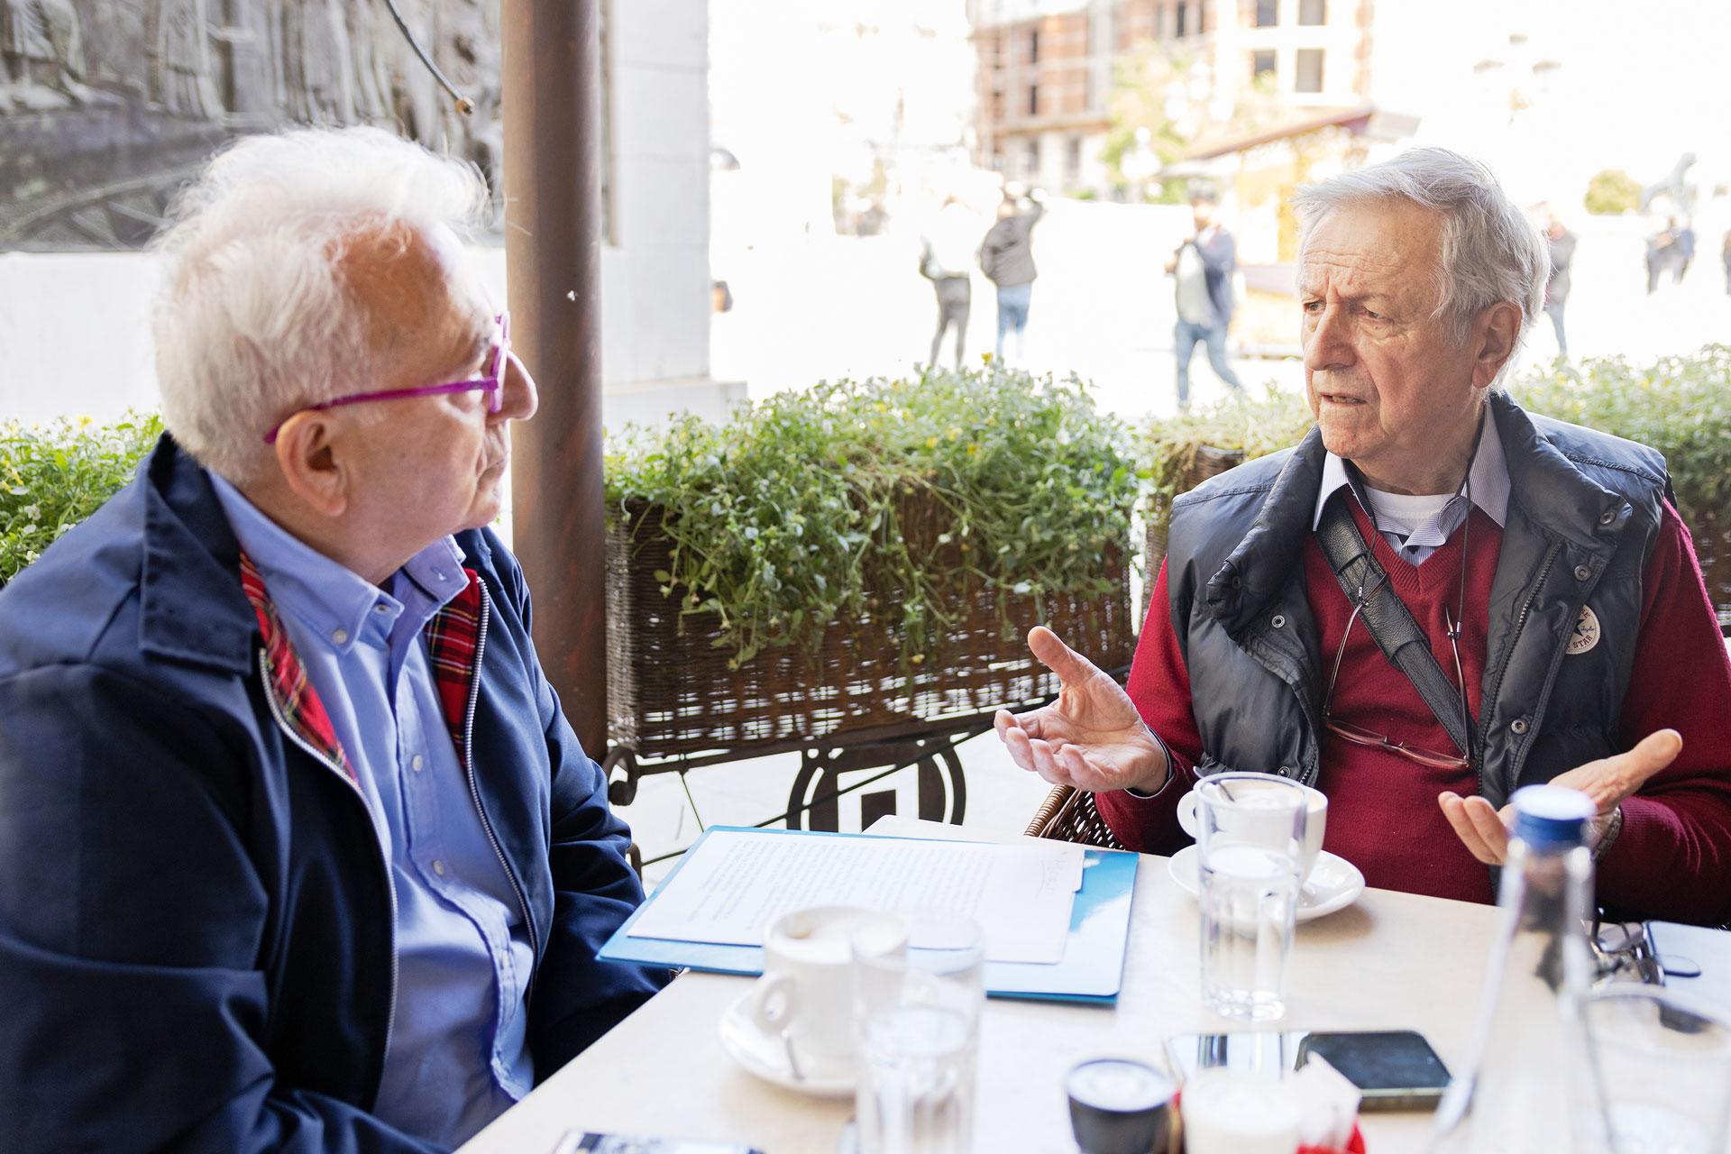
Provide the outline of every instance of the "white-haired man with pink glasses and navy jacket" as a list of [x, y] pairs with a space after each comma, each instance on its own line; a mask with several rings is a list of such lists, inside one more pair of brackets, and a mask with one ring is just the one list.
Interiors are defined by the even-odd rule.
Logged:
[[159, 242], [170, 434], [0, 592], [9, 1151], [440, 1151], [666, 979], [488, 524], [479, 176], [254, 137]]

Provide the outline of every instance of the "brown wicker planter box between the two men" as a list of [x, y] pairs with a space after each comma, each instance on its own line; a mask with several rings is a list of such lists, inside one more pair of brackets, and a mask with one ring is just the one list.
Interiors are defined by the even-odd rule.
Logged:
[[[938, 723], [1021, 706], [1058, 683], [1026, 647], [1026, 631], [1049, 625], [1106, 670], [1127, 666], [1129, 569], [1108, 550], [1113, 592], [1099, 599], [1033, 597], [1001, 588], [957, 588], [957, 625], [926, 663], [902, 668], [902, 638], [886, 619], [836, 619], [815, 652], [763, 649], [737, 670], [715, 614], [679, 619], [656, 569], [670, 569], [660, 510], [635, 510], [608, 535], [608, 740], [639, 758], [691, 758], [819, 740], [850, 730]], [[895, 590], [876, 590], [885, 606]], [[1039, 612], [1044, 609], [1044, 616]], [[1007, 626], [1007, 630], [1006, 630]], [[1007, 635], [1006, 635], [1007, 633]]]

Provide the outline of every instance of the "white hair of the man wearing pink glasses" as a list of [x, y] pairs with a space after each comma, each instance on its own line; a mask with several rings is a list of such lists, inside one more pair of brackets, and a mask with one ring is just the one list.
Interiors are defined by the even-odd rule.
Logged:
[[220, 152], [152, 244], [164, 258], [152, 325], [163, 424], [206, 467], [253, 479], [279, 420], [379, 377], [386, 349], [343, 273], [348, 244], [462, 232], [485, 206], [473, 164], [377, 128], [246, 137]]

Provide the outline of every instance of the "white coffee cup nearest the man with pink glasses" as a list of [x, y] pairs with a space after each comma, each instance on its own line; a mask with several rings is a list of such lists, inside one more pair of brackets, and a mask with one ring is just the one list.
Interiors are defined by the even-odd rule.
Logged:
[[[862, 945], [867, 943], [867, 945]], [[853, 957], [907, 950], [907, 922], [852, 905], [815, 905], [775, 919], [763, 938], [763, 976], [746, 1012], [767, 1035], [782, 1035], [800, 1062], [852, 1059]]]

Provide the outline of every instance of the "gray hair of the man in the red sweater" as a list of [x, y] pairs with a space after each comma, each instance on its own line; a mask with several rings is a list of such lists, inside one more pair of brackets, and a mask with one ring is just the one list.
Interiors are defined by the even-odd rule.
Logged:
[[[1520, 306], [1516, 337], [1525, 337], [1544, 305], [1549, 249], [1490, 170], [1449, 149], [1409, 149], [1380, 164], [1302, 185], [1293, 196], [1302, 221], [1300, 263], [1310, 234], [1331, 211], [1393, 197], [1442, 216], [1433, 317], [1444, 324], [1449, 341], [1464, 343], [1473, 318], [1497, 301]], [[1504, 369], [1513, 362], [1511, 351]]]

